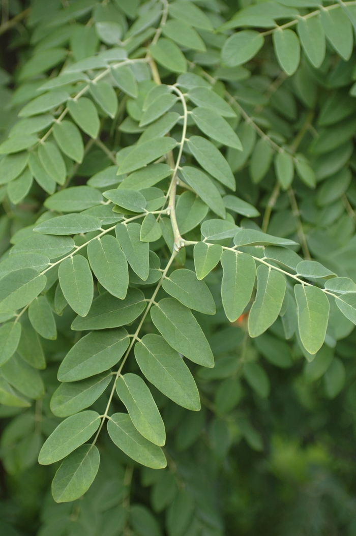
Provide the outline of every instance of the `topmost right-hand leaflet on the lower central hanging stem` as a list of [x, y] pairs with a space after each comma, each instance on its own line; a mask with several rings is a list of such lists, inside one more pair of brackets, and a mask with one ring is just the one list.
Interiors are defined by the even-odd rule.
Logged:
[[169, 278], [164, 279], [162, 287], [190, 309], [203, 312], [205, 315], [216, 313], [216, 306], [209, 288], [204, 281], [199, 281], [195, 272], [191, 270], [175, 270]]

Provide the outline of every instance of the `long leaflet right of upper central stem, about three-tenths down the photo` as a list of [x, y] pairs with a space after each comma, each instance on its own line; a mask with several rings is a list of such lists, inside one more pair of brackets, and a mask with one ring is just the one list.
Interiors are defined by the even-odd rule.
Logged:
[[188, 141], [188, 147], [194, 158], [207, 173], [231, 190], [236, 189], [235, 178], [231, 168], [215, 145], [201, 136], [191, 136]]

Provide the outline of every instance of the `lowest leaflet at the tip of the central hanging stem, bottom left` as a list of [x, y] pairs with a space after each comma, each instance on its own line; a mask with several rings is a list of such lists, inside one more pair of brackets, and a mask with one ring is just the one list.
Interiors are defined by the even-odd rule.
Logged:
[[100, 455], [95, 445], [81, 445], [63, 460], [52, 482], [57, 503], [75, 501], [90, 488], [97, 475]]

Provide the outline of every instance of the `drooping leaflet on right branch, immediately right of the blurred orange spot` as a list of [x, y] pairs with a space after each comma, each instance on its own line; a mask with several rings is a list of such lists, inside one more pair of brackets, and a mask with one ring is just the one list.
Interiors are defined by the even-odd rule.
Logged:
[[286, 292], [283, 274], [263, 264], [257, 268], [256, 299], [248, 316], [250, 337], [258, 337], [276, 321]]

